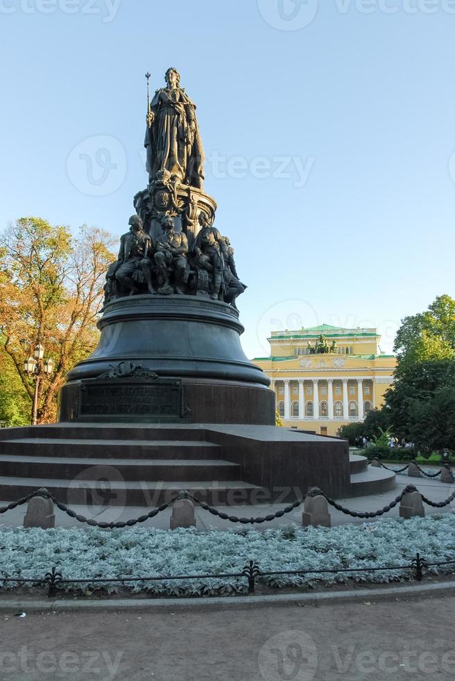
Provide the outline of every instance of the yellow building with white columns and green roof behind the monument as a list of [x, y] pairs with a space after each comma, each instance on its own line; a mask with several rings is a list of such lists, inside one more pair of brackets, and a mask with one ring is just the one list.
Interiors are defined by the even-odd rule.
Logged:
[[270, 357], [253, 360], [271, 379], [287, 427], [336, 435], [381, 407], [393, 383], [395, 356], [379, 351], [377, 329], [323, 324], [272, 331]]

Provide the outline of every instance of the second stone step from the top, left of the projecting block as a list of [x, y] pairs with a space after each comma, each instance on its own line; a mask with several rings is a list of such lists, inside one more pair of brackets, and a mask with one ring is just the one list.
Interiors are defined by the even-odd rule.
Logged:
[[220, 452], [220, 445], [196, 440], [17, 438], [0, 441], [0, 454], [59, 459], [214, 459]]

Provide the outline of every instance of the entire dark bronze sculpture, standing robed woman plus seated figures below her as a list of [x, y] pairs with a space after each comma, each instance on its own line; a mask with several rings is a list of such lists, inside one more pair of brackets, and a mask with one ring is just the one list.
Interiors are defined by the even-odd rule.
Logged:
[[[146, 74], [147, 85], [150, 74]], [[246, 289], [230, 240], [214, 227], [214, 199], [203, 192], [204, 151], [196, 106], [180, 88], [176, 69], [146, 115], [148, 188], [133, 203], [136, 215], [108, 269], [105, 304], [117, 297], [205, 295], [227, 302]], [[237, 308], [236, 308], [237, 309]]]

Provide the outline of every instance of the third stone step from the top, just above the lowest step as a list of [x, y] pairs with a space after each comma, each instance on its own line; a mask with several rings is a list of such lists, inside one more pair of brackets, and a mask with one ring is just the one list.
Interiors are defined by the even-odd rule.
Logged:
[[[21, 456], [19, 454], [0, 454], [0, 484], [3, 477], [40, 477], [44, 470], [49, 479], [65, 478], [74, 480], [76, 476], [106, 479], [175, 481], [181, 480], [223, 480], [239, 479], [241, 466], [222, 459], [106, 459]], [[93, 472], [93, 473], [91, 473]], [[117, 475], [118, 473], [118, 475]]]

